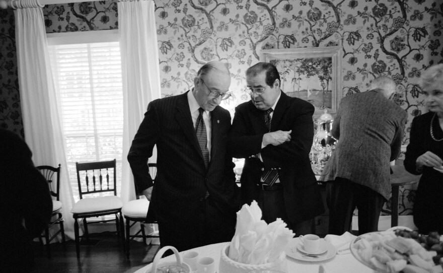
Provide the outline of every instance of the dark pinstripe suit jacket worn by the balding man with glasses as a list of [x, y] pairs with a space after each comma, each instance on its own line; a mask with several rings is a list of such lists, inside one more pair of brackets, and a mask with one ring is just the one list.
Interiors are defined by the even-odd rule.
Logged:
[[146, 161], [157, 145], [157, 177], [149, 214], [153, 209], [159, 221], [179, 221], [194, 213], [206, 190], [220, 210], [235, 213], [239, 209], [234, 163], [226, 151], [231, 125], [228, 110], [215, 107], [211, 124], [211, 160], [206, 170], [187, 93], [152, 101], [147, 107], [128, 161], [137, 189], [152, 186]]

